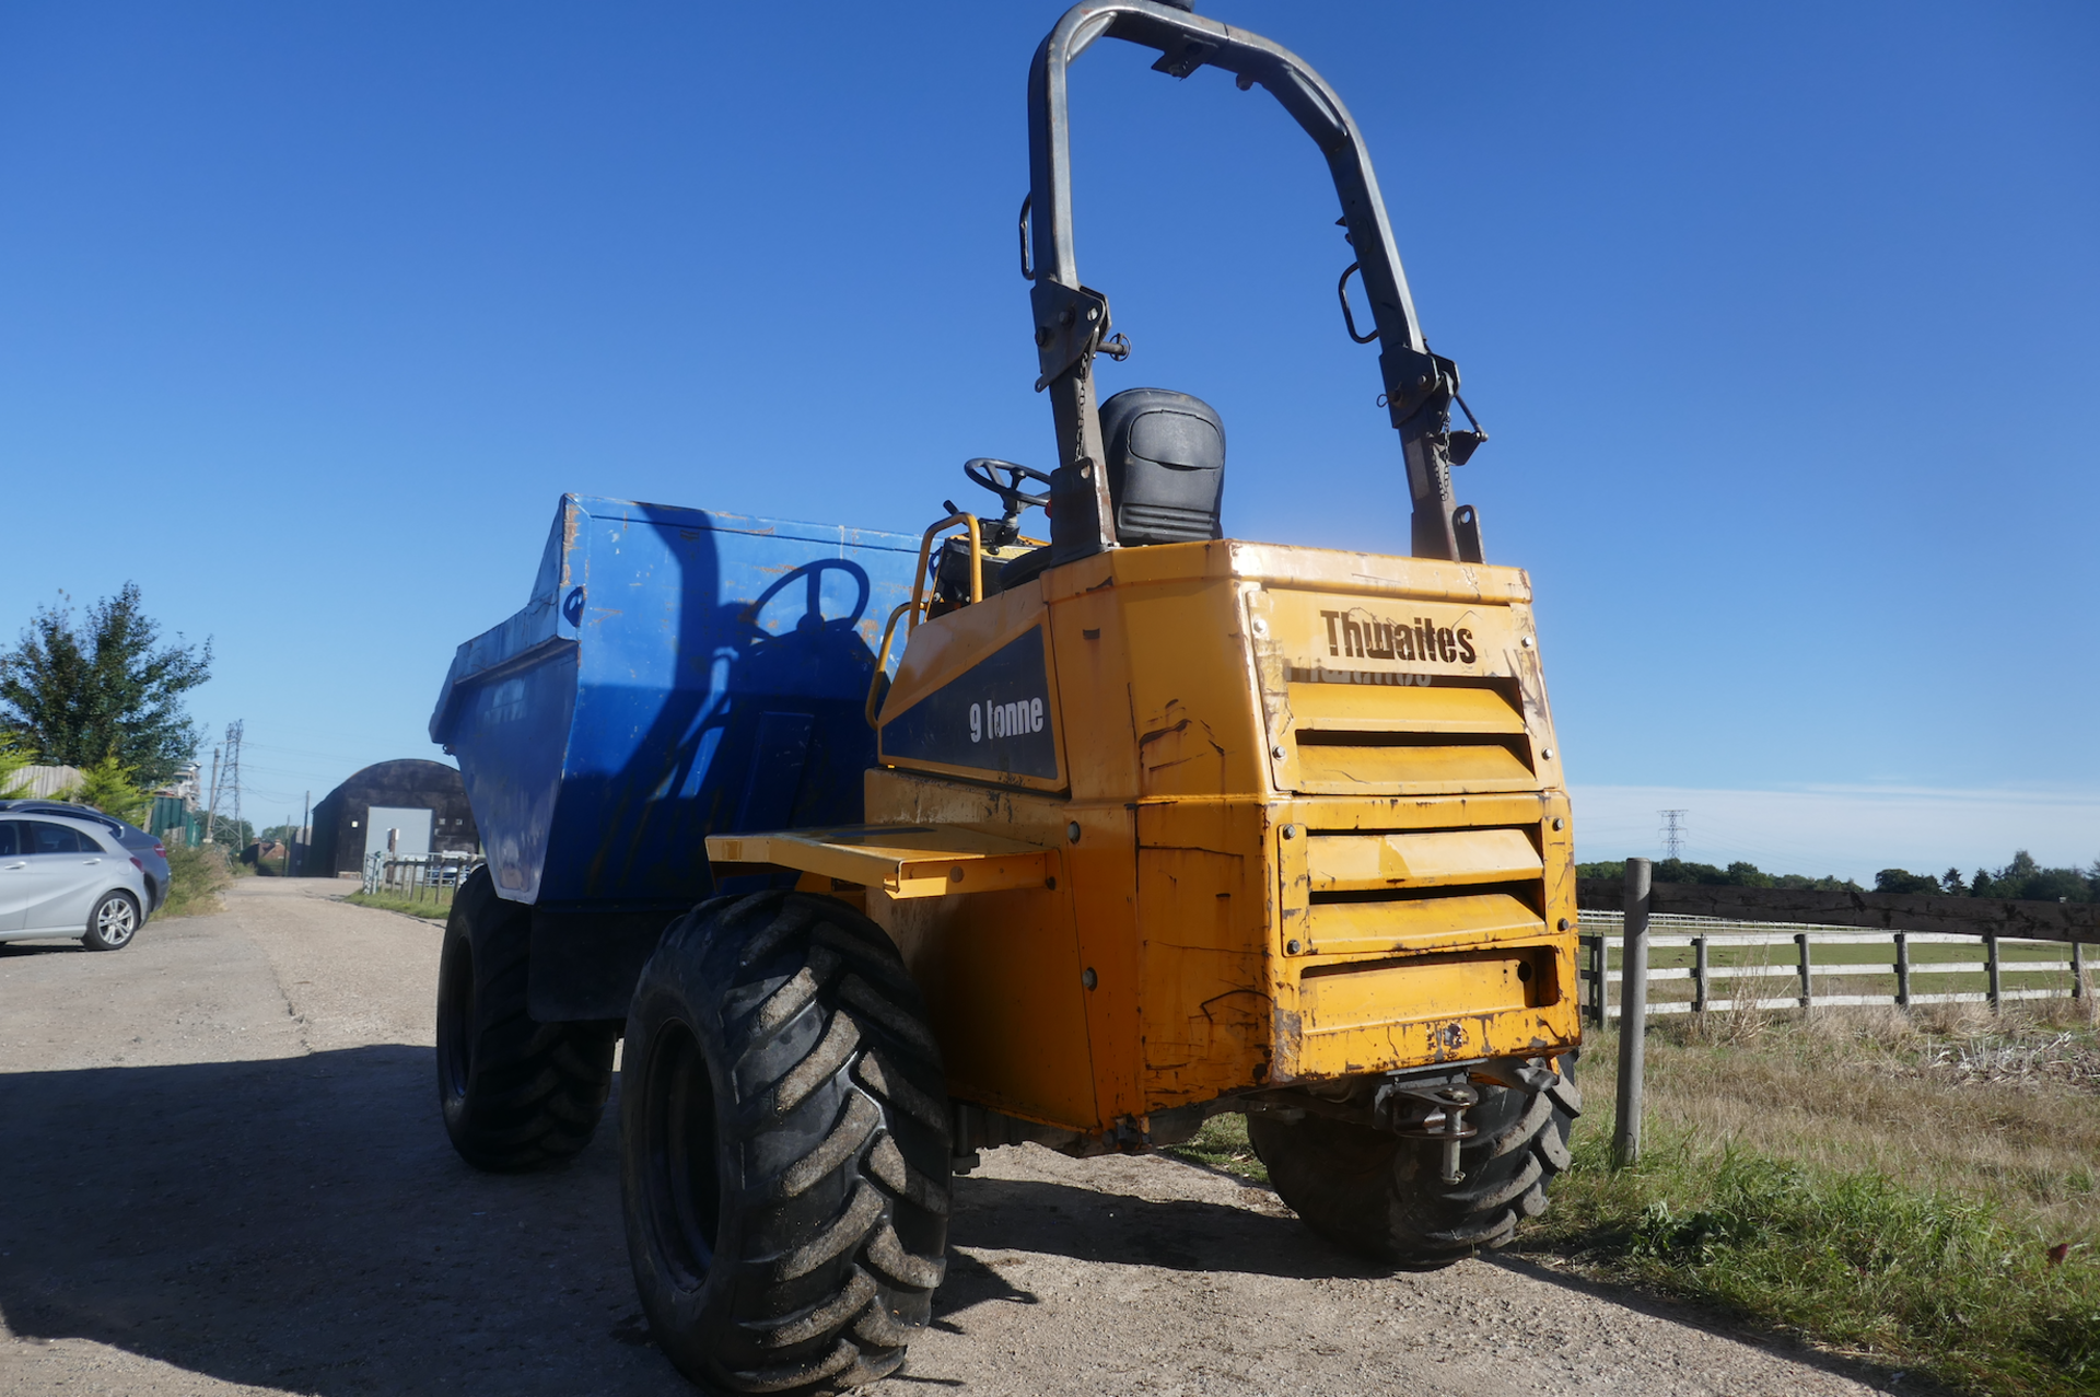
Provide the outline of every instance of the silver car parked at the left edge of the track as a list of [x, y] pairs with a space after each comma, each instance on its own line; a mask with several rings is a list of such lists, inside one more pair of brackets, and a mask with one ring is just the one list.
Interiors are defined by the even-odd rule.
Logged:
[[149, 905], [145, 861], [105, 817], [0, 811], [0, 941], [76, 937], [116, 952]]

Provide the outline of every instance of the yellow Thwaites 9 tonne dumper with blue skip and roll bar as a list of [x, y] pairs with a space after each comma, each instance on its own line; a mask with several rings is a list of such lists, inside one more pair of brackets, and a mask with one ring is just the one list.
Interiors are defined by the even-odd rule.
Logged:
[[[1222, 538], [1220, 414], [1161, 389], [1098, 399], [1096, 357], [1128, 342], [1075, 265], [1065, 82], [1100, 38], [1157, 50], [1174, 78], [1210, 65], [1262, 86], [1325, 155], [1350, 246], [1344, 326], [1378, 347], [1409, 555]], [[815, 674], [817, 649], [804, 670], [783, 658], [834, 626], [827, 672], [859, 702], [827, 689], [794, 708], [777, 679], [756, 718], [729, 700], [714, 729], [651, 710], [662, 735], [622, 767], [640, 769], [634, 798], [626, 775], [588, 784], [575, 754], [611, 702], [588, 647], [634, 624], [632, 597], [598, 616], [592, 588], [645, 527], [714, 538], [710, 559], [785, 534], [573, 500], [546, 618], [462, 647], [441, 702], [481, 828], [519, 830], [491, 838], [447, 929], [447, 1126], [487, 1168], [573, 1153], [624, 1036], [634, 1273], [657, 1342], [712, 1391], [892, 1372], [941, 1284], [951, 1174], [991, 1147], [1144, 1151], [1243, 1111], [1310, 1227], [1407, 1267], [1504, 1244], [1569, 1162], [1575, 880], [1531, 586], [1483, 559], [1453, 502], [1451, 466], [1485, 433], [1424, 345], [1348, 111], [1268, 40], [1086, 0], [1035, 55], [1029, 132], [1021, 267], [1056, 462], [968, 462], [998, 513], [945, 504], [916, 548], [804, 540], [796, 626], [764, 628], [775, 592], [743, 611], [710, 599], [758, 637], [737, 651], [746, 674]], [[1046, 540], [1023, 536], [1029, 508]], [[687, 578], [701, 565], [701, 544], [666, 546]], [[844, 628], [821, 597], [840, 569], [859, 571]], [[533, 805], [504, 765], [525, 765], [502, 735], [538, 712], [536, 683], [556, 708], [569, 685], [546, 729], [571, 763], [556, 784], [598, 800], [569, 836], [571, 796]], [[708, 796], [724, 752], [743, 765]], [[819, 777], [830, 805], [806, 794]], [[680, 828], [697, 836], [682, 859], [632, 855]], [[569, 845], [592, 857], [556, 897]], [[672, 863], [714, 893], [676, 920], [634, 895]]]

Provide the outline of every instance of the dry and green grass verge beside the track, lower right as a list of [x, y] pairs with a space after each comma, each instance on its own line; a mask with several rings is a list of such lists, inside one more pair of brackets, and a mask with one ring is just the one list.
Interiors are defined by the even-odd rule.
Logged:
[[2100, 1044], [1947, 1006], [1648, 1027], [1611, 1170], [1615, 1034], [1516, 1250], [1966, 1393], [2100, 1391]]

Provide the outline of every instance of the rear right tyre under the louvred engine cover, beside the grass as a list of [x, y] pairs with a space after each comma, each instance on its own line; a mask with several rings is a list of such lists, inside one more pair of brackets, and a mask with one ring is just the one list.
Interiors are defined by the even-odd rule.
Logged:
[[1546, 1187], [1569, 1166], [1581, 1115], [1573, 1055], [1544, 1092], [1478, 1086], [1466, 1113], [1478, 1134], [1460, 1149], [1464, 1183], [1443, 1183], [1441, 1147], [1373, 1126], [1252, 1111], [1247, 1139], [1277, 1197], [1336, 1246], [1407, 1269], [1449, 1267], [1495, 1250], [1518, 1218], [1546, 1212]]

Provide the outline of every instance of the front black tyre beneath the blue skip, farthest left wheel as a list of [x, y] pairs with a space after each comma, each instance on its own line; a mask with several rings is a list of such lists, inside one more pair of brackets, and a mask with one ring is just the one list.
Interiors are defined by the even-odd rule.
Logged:
[[437, 966], [437, 1103], [475, 1168], [559, 1164], [590, 1143], [613, 1086], [617, 1025], [538, 1023], [525, 1008], [531, 910], [487, 868], [460, 884]]

